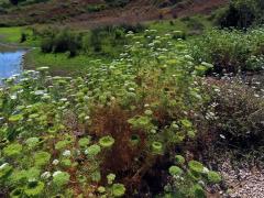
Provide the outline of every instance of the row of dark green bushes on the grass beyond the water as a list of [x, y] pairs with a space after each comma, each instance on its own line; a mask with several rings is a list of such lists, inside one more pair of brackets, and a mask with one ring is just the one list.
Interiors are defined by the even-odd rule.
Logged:
[[58, 30], [56, 28], [33, 28], [32, 37], [41, 40], [43, 53], [67, 53], [75, 56], [78, 53], [100, 54], [118, 57], [128, 44], [125, 33], [142, 32], [145, 28], [136, 25], [108, 25], [92, 29], [89, 32], [75, 32], [70, 30]]

